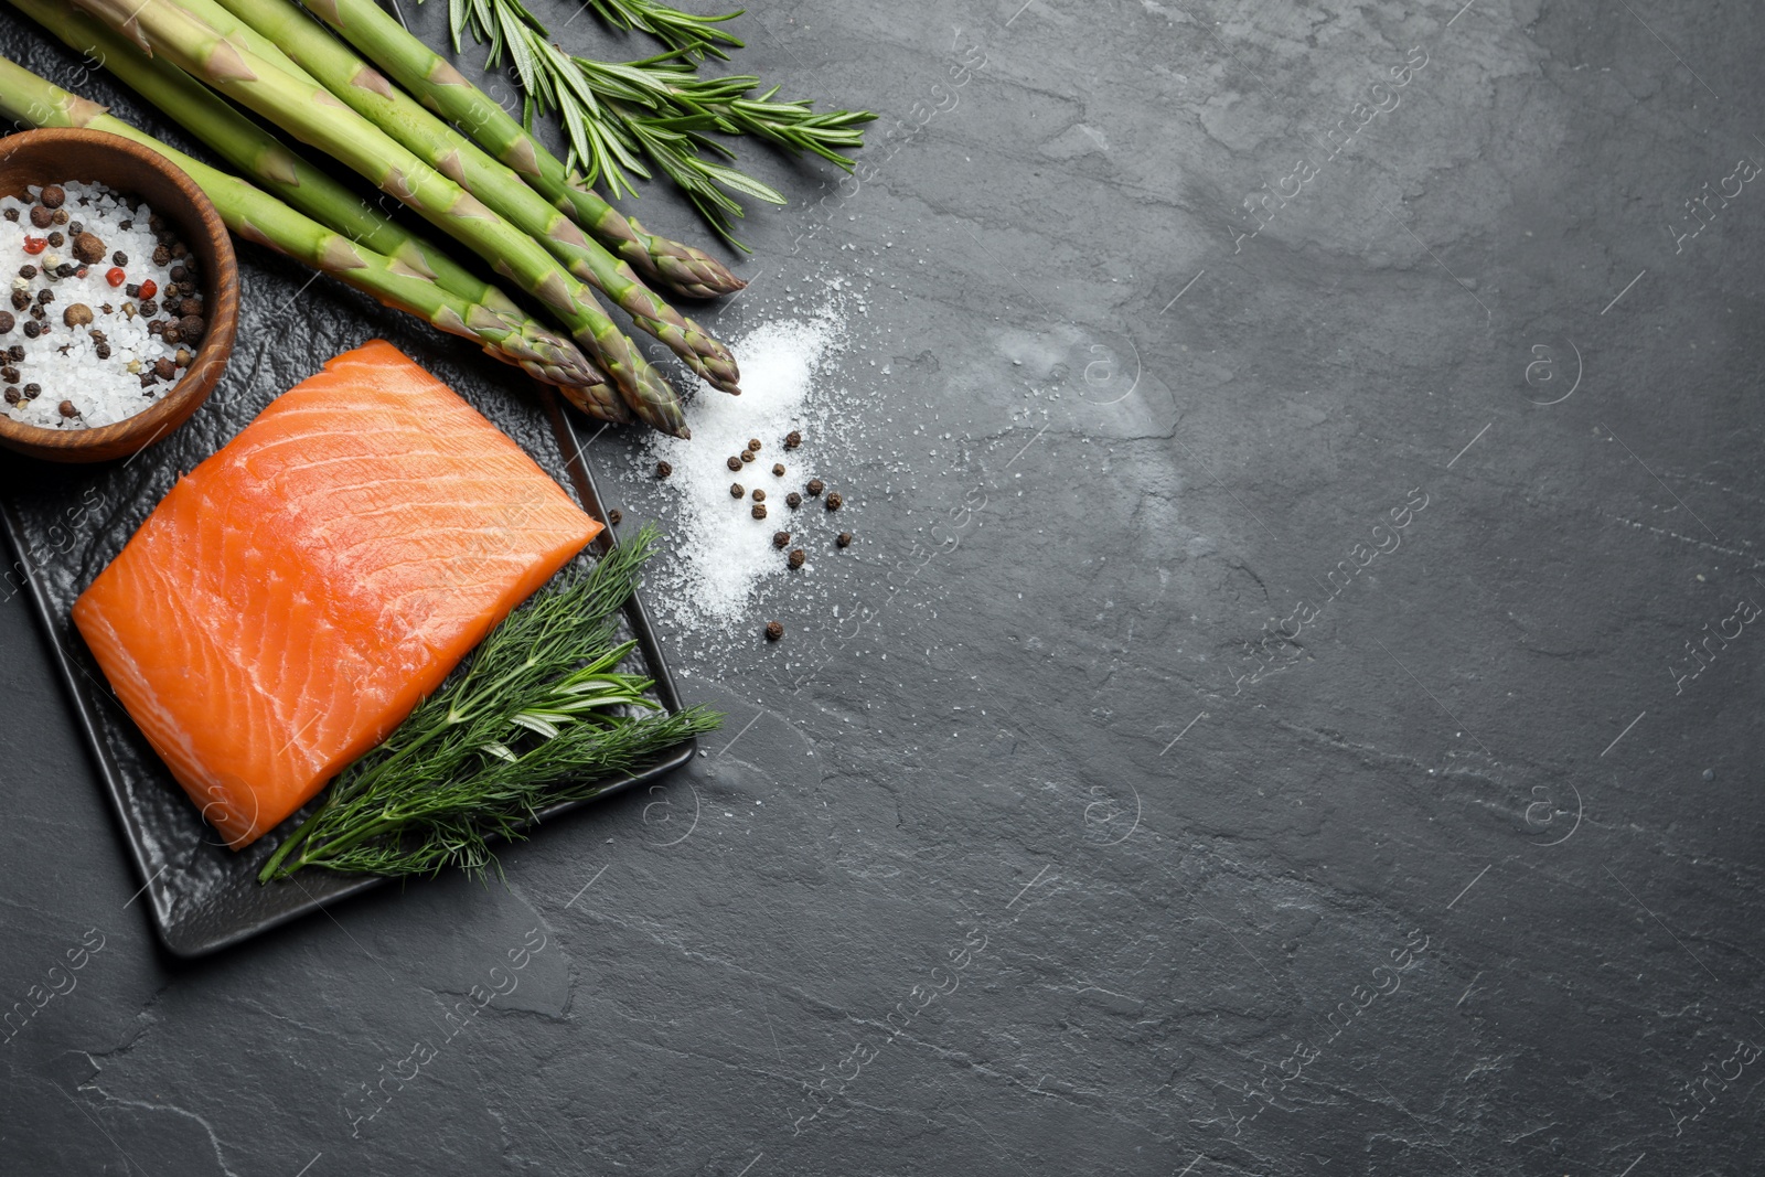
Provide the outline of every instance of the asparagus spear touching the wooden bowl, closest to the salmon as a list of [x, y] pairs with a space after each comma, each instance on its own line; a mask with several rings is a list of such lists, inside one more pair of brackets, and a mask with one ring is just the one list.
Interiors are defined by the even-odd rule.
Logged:
[[34, 127], [85, 127], [132, 139], [189, 173], [228, 228], [240, 236], [323, 270], [448, 334], [471, 339], [498, 360], [515, 364], [547, 383], [563, 385], [567, 395], [581, 386], [605, 383], [570, 341], [558, 339], [531, 321], [512, 323], [501, 312], [468, 302], [432, 279], [404, 272], [395, 259], [342, 238], [238, 176], [191, 159], [109, 116], [102, 106], [69, 94], [4, 56], [0, 113]]

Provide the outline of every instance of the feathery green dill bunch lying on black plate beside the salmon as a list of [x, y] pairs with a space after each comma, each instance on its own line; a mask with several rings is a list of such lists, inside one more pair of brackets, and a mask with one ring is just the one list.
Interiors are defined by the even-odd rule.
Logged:
[[565, 572], [512, 612], [466, 669], [378, 748], [332, 782], [325, 801], [258, 873], [304, 868], [374, 875], [482, 872], [491, 842], [521, 838], [558, 801], [600, 792], [720, 715], [669, 715], [653, 681], [618, 667], [618, 611], [637, 588], [657, 533], [644, 528], [591, 570]]

